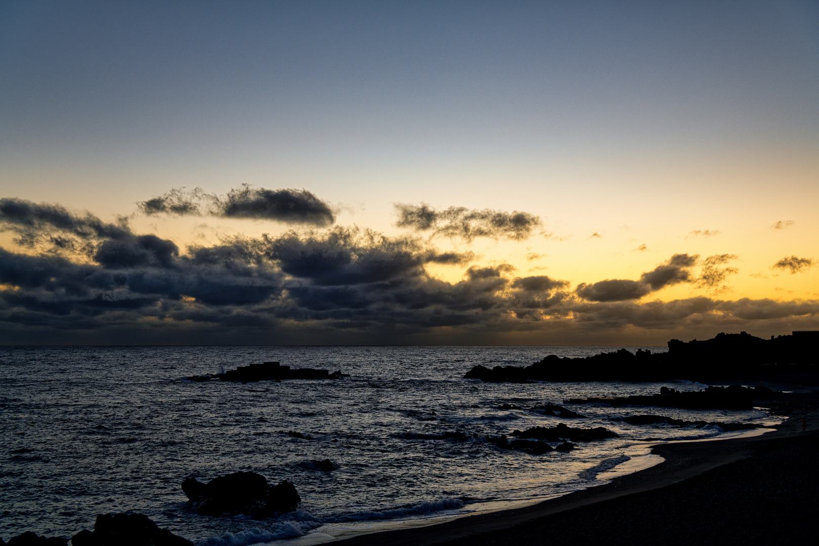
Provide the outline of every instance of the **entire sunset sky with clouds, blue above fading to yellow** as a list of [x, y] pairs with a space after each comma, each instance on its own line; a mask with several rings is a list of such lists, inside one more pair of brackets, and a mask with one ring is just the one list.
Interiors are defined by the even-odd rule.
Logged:
[[819, 329], [817, 2], [2, 2], [0, 344]]

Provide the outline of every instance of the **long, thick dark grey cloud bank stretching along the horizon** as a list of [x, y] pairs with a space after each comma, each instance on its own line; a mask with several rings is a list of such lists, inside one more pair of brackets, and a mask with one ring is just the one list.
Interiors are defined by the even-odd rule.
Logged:
[[[236, 202], [256, 195], [239, 195]], [[171, 199], [165, 206], [184, 210], [186, 202]], [[468, 212], [457, 217], [473, 218]], [[450, 225], [448, 217], [436, 218], [437, 227], [435, 221], [423, 225]], [[500, 229], [498, 237], [516, 229], [491, 225]], [[638, 280], [606, 279], [572, 290], [566, 279], [518, 275], [510, 264], [477, 264], [470, 252], [441, 251], [411, 233], [392, 237], [367, 228], [313, 228], [181, 248], [135, 233], [124, 220], [106, 223], [61, 205], [7, 198], [0, 200], [0, 229], [21, 245], [19, 252], [0, 249], [0, 341], [11, 344], [565, 344], [704, 328], [713, 335], [713, 329], [753, 325], [780, 332], [819, 323], [816, 300], [640, 301], [681, 283], [721, 286], [735, 273], [727, 265], [736, 259], [730, 254], [676, 254]], [[464, 232], [477, 237], [471, 224]], [[810, 265], [803, 258], [783, 260], [784, 268]], [[429, 264], [462, 268], [462, 278], [435, 278]]]

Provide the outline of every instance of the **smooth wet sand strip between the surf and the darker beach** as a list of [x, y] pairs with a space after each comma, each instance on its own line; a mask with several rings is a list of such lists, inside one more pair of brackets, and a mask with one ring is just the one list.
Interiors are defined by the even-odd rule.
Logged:
[[[808, 422], [815, 424], [819, 412], [808, 415]], [[760, 443], [782, 444], [790, 439], [815, 437], [816, 427], [810, 426], [808, 433], [801, 432], [798, 420], [790, 417], [775, 430], [762, 435], [714, 440], [689, 440], [668, 444], [651, 445], [651, 453], [663, 457], [663, 461], [652, 467], [618, 476], [608, 483], [595, 485], [585, 490], [574, 491], [554, 499], [534, 503], [523, 508], [513, 508], [469, 514], [454, 517], [450, 521], [413, 526], [405, 529], [375, 531], [355, 535], [350, 538], [324, 542], [339, 546], [370, 546], [395, 544], [396, 546], [425, 546], [431, 544], [477, 544], [476, 539], [504, 534], [516, 530], [524, 535], [527, 528], [547, 525], [550, 517], [564, 514], [578, 508], [595, 509], [600, 503], [617, 503], [619, 499], [652, 492], [662, 496], [669, 486], [690, 481], [747, 458], [753, 458], [754, 448]], [[761, 444], [760, 444], [761, 445]], [[554, 519], [554, 518], [552, 518]], [[601, 537], [601, 539], [604, 537]], [[500, 543], [504, 544], [504, 540]], [[276, 543], [271, 543], [276, 544]], [[490, 544], [490, 543], [487, 543]], [[495, 539], [491, 541], [495, 544]], [[511, 542], [509, 543], [511, 544]]]

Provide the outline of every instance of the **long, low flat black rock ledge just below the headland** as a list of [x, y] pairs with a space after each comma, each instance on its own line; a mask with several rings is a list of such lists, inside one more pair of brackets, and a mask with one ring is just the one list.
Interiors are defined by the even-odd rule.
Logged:
[[746, 388], [740, 385], [709, 386], [705, 390], [679, 391], [663, 387], [658, 395], [590, 397], [566, 400], [566, 404], [609, 404], [611, 406], [656, 406], [681, 409], [750, 409], [753, 399], [771, 394], [767, 387]]

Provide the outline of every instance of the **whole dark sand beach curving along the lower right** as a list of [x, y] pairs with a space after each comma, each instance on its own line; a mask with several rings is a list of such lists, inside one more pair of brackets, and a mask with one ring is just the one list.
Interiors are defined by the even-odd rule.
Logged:
[[791, 418], [765, 435], [661, 444], [655, 467], [531, 507], [333, 544], [816, 544], [817, 417], [807, 432]]

